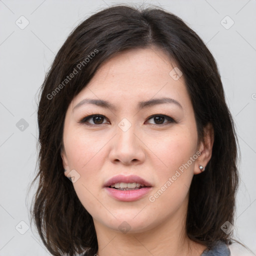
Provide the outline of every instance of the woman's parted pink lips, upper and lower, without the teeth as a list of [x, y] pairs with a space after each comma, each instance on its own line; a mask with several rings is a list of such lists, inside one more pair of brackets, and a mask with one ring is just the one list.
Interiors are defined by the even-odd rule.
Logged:
[[[118, 190], [118, 189], [109, 187], [110, 185], [114, 183], [119, 183], [119, 182], [124, 182], [124, 183], [136, 182], [136, 183], [144, 184], [145, 186], [139, 189], [134, 189], [134, 190]], [[148, 181], [136, 175], [129, 175], [129, 176], [117, 175], [108, 179], [104, 184], [104, 188], [106, 189], [107, 193], [110, 196], [112, 196], [117, 200], [134, 201], [134, 200], [138, 200], [139, 198], [147, 194], [152, 189], [152, 185]]]

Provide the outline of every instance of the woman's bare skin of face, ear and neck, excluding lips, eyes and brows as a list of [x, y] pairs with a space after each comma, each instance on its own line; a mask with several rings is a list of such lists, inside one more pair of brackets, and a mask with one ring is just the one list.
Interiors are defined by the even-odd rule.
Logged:
[[[93, 218], [99, 256], [199, 256], [206, 248], [187, 237], [185, 218], [191, 179], [211, 157], [213, 129], [206, 125], [204, 141], [198, 140], [183, 76], [174, 80], [169, 75], [174, 66], [154, 47], [125, 51], [106, 61], [68, 106], [61, 152], [64, 174], [70, 176], [74, 169], [80, 175], [73, 186]], [[158, 97], [173, 98], [182, 108], [174, 103], [137, 108], [139, 101]], [[107, 100], [116, 110], [93, 104], [73, 109], [84, 98]], [[88, 125], [79, 122], [90, 114], [104, 118], [94, 122], [90, 118]], [[175, 121], [149, 119], [153, 114]], [[123, 118], [131, 125], [126, 131], [118, 126]], [[197, 151], [200, 156], [158, 198], [149, 201]], [[131, 202], [114, 199], [103, 184], [117, 174], [144, 178], [152, 184], [150, 193]], [[130, 228], [126, 233], [118, 228], [123, 221]]]

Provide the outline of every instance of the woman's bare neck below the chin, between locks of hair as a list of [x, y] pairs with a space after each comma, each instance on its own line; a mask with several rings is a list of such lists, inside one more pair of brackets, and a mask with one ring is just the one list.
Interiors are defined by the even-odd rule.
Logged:
[[200, 256], [206, 246], [188, 238], [186, 216], [182, 216], [181, 212], [176, 213], [143, 232], [121, 233], [93, 219], [98, 241], [97, 255]]

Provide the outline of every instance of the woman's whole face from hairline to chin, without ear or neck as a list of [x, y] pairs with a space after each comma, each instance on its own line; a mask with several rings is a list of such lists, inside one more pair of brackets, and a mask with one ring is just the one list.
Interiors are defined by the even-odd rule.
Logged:
[[173, 67], [156, 48], [128, 50], [105, 62], [68, 106], [65, 175], [95, 225], [141, 232], [186, 213], [192, 176], [206, 163]]

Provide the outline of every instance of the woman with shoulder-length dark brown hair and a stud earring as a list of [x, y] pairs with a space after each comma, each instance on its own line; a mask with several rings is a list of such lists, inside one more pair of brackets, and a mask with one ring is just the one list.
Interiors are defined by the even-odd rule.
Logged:
[[233, 120], [213, 56], [177, 16], [112, 6], [79, 24], [38, 127], [33, 217], [53, 255], [230, 254]]

